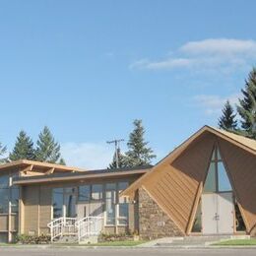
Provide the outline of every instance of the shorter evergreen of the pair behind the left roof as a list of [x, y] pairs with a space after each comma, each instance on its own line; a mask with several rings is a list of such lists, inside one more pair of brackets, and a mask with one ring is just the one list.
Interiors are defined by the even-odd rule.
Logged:
[[34, 160], [32, 139], [21, 131], [17, 137], [13, 152], [9, 155], [10, 160]]

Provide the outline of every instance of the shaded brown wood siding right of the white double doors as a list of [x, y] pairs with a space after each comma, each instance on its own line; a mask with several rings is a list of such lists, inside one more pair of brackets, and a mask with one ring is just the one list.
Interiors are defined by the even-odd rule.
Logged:
[[224, 163], [242, 208], [247, 231], [256, 224], [256, 158], [250, 153], [219, 139]]

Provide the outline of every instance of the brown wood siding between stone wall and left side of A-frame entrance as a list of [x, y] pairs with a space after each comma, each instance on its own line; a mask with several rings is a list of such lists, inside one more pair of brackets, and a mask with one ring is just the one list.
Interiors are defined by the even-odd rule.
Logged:
[[[185, 233], [193, 213], [197, 192], [205, 179], [216, 137], [207, 134], [191, 144], [172, 163], [160, 166], [158, 178], [145, 182], [152, 198]], [[154, 176], [154, 175], [153, 175]]]

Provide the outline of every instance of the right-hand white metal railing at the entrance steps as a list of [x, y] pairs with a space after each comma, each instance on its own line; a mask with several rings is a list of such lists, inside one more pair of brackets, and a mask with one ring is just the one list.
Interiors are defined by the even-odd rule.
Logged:
[[84, 237], [98, 235], [102, 229], [102, 217], [85, 217], [76, 222], [78, 242]]

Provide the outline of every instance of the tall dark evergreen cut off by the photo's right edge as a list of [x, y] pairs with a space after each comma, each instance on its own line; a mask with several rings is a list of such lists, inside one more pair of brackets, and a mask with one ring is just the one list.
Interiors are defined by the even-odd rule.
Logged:
[[241, 117], [241, 127], [246, 136], [256, 139], [256, 68], [245, 80], [245, 89], [241, 90], [243, 98], [239, 99], [237, 112]]

